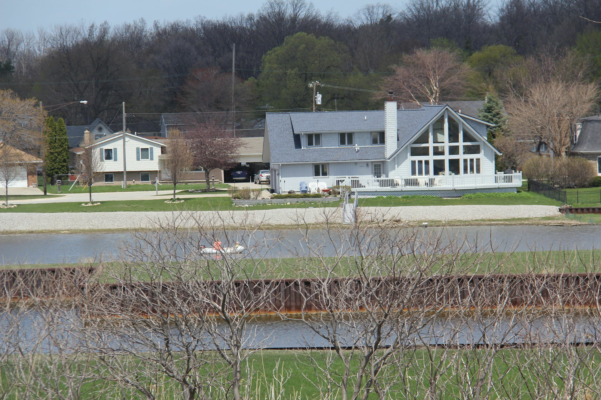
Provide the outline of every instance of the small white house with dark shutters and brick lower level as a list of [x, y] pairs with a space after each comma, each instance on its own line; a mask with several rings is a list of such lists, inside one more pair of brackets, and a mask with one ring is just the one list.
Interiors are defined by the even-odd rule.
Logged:
[[[85, 135], [89, 135], [86, 131]], [[127, 184], [151, 183], [159, 174], [159, 156], [164, 144], [144, 136], [126, 133], [125, 154], [123, 153], [123, 134], [121, 132], [103, 136], [100, 139], [88, 139], [91, 147], [97, 152], [97, 185], [120, 185], [123, 182], [123, 157], [127, 168]], [[82, 148], [74, 148], [73, 152], [81, 153]]]

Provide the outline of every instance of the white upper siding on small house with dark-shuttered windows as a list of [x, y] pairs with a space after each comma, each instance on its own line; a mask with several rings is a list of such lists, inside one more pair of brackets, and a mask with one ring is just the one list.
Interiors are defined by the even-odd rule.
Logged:
[[[145, 141], [135, 136], [127, 136], [126, 141], [127, 171], [157, 171], [159, 169], [160, 145]], [[136, 148], [153, 148], [153, 160], [138, 160]], [[117, 161], [101, 161], [99, 171], [123, 171], [123, 138], [121, 136], [103, 142], [94, 147], [100, 153], [101, 149], [116, 148]], [[102, 160], [102, 159], [101, 159]]]

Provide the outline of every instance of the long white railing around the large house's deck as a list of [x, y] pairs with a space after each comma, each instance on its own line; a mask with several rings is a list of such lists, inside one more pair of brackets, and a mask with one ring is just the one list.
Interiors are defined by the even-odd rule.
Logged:
[[335, 177], [333, 185], [350, 186], [358, 192], [390, 190], [453, 190], [486, 187], [520, 187], [522, 173], [495, 175], [438, 175], [430, 177], [353, 178]]

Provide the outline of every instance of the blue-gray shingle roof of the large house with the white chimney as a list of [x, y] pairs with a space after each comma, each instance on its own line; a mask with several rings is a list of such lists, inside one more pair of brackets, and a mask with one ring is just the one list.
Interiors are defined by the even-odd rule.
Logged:
[[[427, 106], [418, 110], [399, 110], [397, 147], [403, 147], [445, 106]], [[367, 120], [365, 120], [367, 117]], [[285, 112], [267, 113], [267, 133], [272, 163], [319, 162], [346, 160], [382, 160], [384, 148], [352, 147], [298, 149], [296, 132], [384, 130], [383, 111]]]

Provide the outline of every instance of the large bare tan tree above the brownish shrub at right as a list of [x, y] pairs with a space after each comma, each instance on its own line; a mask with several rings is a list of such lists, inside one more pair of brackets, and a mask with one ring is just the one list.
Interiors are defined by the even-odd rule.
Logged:
[[563, 157], [578, 118], [593, 109], [598, 95], [595, 83], [559, 79], [535, 83], [505, 103], [510, 129], [522, 138], [545, 142], [555, 156]]

